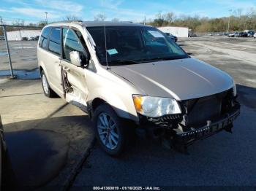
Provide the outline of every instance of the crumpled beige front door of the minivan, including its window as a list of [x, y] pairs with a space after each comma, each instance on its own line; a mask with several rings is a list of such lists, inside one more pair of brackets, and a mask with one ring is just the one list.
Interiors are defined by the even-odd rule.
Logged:
[[88, 95], [86, 85], [87, 70], [73, 65], [69, 55], [72, 51], [85, 54], [85, 44], [80, 42], [78, 31], [71, 28], [62, 28], [62, 30], [63, 59], [61, 59], [61, 77], [64, 98], [70, 104], [79, 106], [80, 109], [86, 111], [86, 98]]

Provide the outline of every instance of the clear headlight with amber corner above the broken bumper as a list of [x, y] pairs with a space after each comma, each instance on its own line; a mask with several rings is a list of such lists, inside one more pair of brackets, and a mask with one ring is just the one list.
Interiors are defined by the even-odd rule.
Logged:
[[146, 95], [132, 95], [132, 98], [136, 111], [147, 117], [181, 113], [177, 101], [173, 98], [157, 98]]

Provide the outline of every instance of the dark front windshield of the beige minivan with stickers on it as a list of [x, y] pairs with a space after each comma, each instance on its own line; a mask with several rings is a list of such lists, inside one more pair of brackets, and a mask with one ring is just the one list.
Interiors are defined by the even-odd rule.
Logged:
[[[97, 56], [106, 64], [104, 27], [88, 27]], [[189, 58], [170, 36], [148, 26], [106, 26], [108, 65]]]

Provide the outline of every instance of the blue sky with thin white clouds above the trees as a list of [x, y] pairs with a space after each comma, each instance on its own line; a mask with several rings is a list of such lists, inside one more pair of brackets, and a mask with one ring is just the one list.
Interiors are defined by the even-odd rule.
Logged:
[[94, 20], [94, 16], [104, 14], [107, 20], [140, 22], [153, 19], [157, 13], [174, 12], [180, 15], [198, 15], [200, 17], [225, 17], [229, 10], [256, 9], [256, 0], [0, 0], [0, 17], [7, 23], [13, 20], [25, 20], [37, 23], [63, 20], [74, 15], [81, 20]]

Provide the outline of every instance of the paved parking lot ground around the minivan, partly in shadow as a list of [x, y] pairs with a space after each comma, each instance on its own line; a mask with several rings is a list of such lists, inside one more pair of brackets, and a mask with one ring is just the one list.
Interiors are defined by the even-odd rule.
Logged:
[[[67, 138], [63, 145], [56, 148], [66, 148], [64, 145], [67, 145], [67, 153], [64, 155], [68, 157], [61, 159], [64, 165], [59, 166], [57, 172], [50, 172], [53, 174], [52, 179], [57, 177], [59, 182], [53, 183], [50, 179], [44, 179], [37, 186], [47, 183], [62, 186], [69, 184], [70, 190], [80, 190], [86, 186], [98, 185], [256, 185], [255, 39], [203, 36], [178, 41], [193, 58], [227, 71], [235, 79], [241, 115], [234, 124], [233, 134], [222, 132], [198, 141], [189, 147], [189, 155], [165, 149], [158, 141], [136, 139], [118, 158], [106, 155], [99, 149], [98, 144], [93, 144], [93, 148], [88, 152], [89, 145], [94, 142], [91, 139], [91, 123], [86, 114], [75, 106], [65, 104], [60, 98], [45, 98], [39, 75], [29, 79], [29, 71], [37, 73], [37, 70], [34, 70], [37, 68], [36, 42], [10, 44], [13, 68], [25, 69], [21, 75], [26, 79], [10, 80], [1, 77], [1, 71], [8, 71], [9, 65], [4, 52], [4, 42], [0, 42], [0, 114], [4, 130], [7, 133], [29, 129], [51, 130]], [[48, 137], [54, 140], [54, 136]], [[10, 153], [12, 149], [17, 149], [14, 144], [11, 145], [13, 146]], [[85, 157], [78, 160], [80, 156]], [[17, 156], [14, 157], [17, 159]], [[53, 161], [56, 160], [58, 159], [53, 158]], [[24, 161], [26, 162], [26, 158]], [[77, 169], [79, 166], [81, 168]], [[26, 177], [26, 172], [20, 176]], [[58, 178], [59, 176], [61, 178]]]

